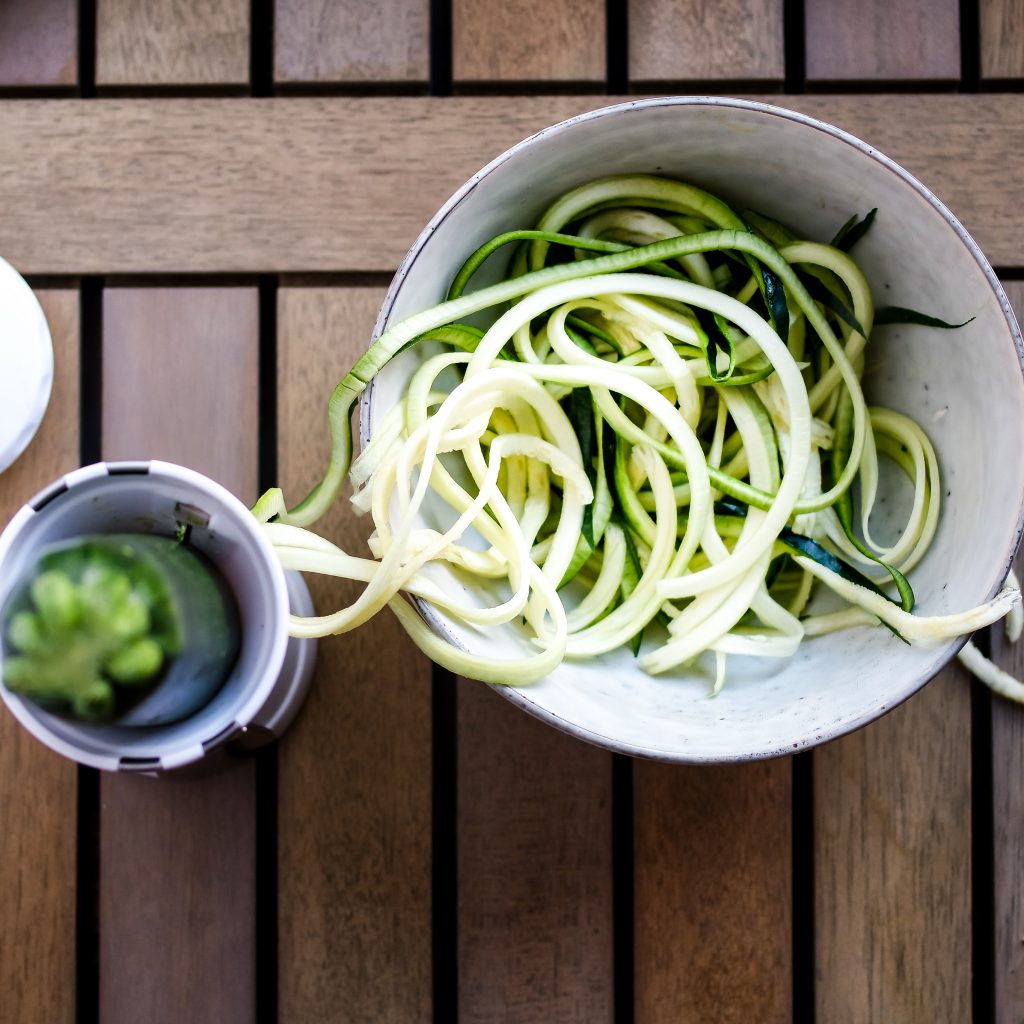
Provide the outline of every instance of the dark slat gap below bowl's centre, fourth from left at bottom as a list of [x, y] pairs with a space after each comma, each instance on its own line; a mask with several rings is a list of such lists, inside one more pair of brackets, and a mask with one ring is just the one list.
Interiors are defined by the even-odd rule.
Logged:
[[634, 846], [633, 759], [611, 756], [611, 927], [615, 1024], [633, 1024], [634, 980]]

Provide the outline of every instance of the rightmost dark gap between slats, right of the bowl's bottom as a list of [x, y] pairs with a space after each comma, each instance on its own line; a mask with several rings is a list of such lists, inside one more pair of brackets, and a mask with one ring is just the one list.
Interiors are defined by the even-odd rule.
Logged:
[[[992, 629], [1001, 629], [998, 623]], [[989, 632], [972, 638], [988, 655]], [[995, 841], [992, 807], [992, 695], [971, 679], [971, 1006], [995, 1020]]]

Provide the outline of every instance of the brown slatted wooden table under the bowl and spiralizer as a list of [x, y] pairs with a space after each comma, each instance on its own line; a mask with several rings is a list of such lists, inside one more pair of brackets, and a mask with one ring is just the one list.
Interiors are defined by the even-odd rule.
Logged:
[[[297, 494], [422, 224], [607, 93], [835, 122], [1024, 302], [1022, 82], [1021, 0], [0, 4], [0, 253], [57, 355], [0, 519], [99, 458]], [[1022, 740], [951, 668], [813, 753], [631, 762], [383, 616], [323, 643], [279, 748], [213, 777], [99, 777], [3, 714], [0, 1021], [1018, 1022]]]

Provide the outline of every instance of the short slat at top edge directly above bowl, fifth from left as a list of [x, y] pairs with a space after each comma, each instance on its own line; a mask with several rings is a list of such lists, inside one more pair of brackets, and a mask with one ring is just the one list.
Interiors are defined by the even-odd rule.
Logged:
[[778, 82], [785, 75], [782, 0], [631, 0], [629, 17], [633, 81]]

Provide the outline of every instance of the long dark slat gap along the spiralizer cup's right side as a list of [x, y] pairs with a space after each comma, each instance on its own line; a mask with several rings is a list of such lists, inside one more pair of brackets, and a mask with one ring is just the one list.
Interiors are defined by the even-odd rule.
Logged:
[[[255, 24], [255, 23], [254, 23]], [[257, 486], [278, 482], [278, 279], [259, 290]], [[256, 1024], [278, 1020], [278, 745], [256, 758]]]

